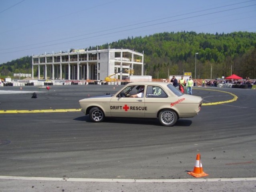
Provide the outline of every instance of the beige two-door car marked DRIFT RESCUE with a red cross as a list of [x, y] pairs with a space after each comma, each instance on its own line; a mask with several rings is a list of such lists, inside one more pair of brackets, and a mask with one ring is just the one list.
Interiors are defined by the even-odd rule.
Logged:
[[113, 95], [95, 96], [79, 101], [92, 122], [105, 117], [158, 118], [163, 126], [173, 126], [179, 118], [194, 117], [202, 98], [183, 94], [164, 82], [133, 82]]

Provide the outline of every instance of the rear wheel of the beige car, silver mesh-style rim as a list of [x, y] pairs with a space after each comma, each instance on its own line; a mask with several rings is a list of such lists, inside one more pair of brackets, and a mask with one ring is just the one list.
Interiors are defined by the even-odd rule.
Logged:
[[164, 109], [159, 113], [159, 122], [163, 126], [173, 126], [177, 120], [177, 113], [171, 109]]

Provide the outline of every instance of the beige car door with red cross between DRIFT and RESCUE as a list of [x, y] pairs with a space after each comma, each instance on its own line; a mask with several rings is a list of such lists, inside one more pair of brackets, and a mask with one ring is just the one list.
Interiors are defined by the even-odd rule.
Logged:
[[[131, 91], [121, 91], [131, 94], [136, 94], [135, 89], [137, 86], [131, 86]], [[133, 91], [133, 92], [132, 92]], [[145, 116], [145, 98], [131, 98], [122, 97], [120, 94], [111, 98], [110, 100], [110, 112], [113, 117], [144, 117]]]

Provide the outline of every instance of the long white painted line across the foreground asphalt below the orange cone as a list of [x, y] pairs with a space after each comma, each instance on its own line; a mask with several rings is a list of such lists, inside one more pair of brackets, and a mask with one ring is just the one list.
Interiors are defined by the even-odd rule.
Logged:
[[0, 176], [0, 179], [10, 180], [42, 180], [42, 181], [73, 181], [73, 182], [124, 182], [124, 183], [175, 183], [175, 182], [227, 182], [227, 181], [256, 181], [252, 178], [194, 178], [194, 179], [97, 179], [97, 178], [55, 178], [55, 177], [20, 177]]

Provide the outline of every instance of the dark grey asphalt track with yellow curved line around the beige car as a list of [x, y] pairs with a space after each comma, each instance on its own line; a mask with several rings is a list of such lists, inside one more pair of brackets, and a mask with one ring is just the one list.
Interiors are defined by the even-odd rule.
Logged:
[[[0, 191], [256, 191], [256, 90], [194, 88], [201, 112], [171, 128], [80, 112], [121, 87], [0, 87]], [[200, 179], [187, 174], [198, 153]]]

